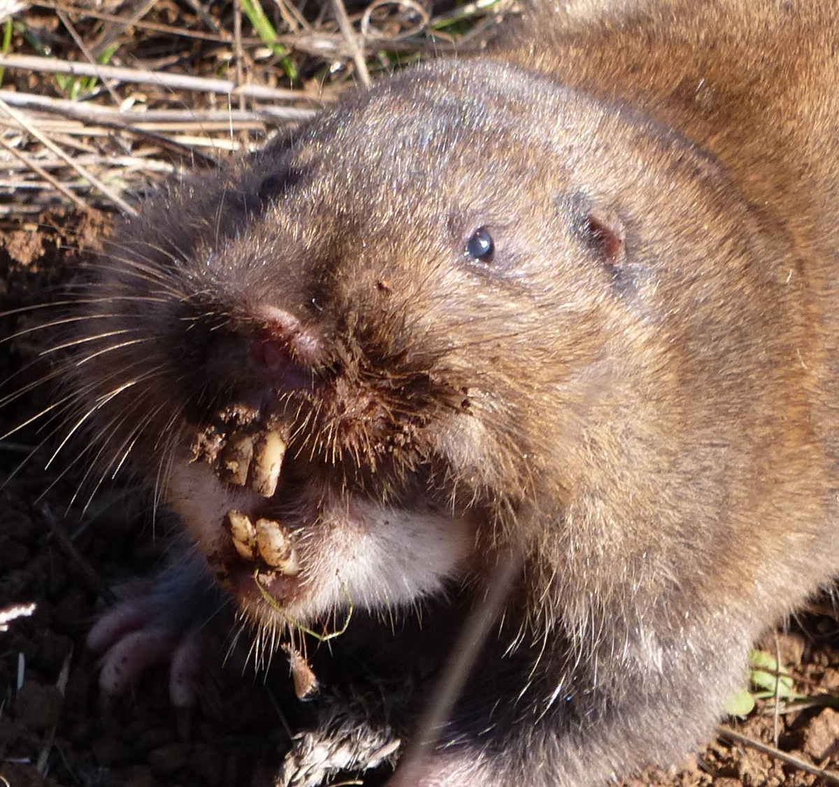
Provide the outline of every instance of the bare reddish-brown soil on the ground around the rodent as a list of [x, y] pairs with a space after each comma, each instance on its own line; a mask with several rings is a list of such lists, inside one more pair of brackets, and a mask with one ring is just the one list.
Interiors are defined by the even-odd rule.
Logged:
[[[158, 8], [164, 8], [163, 22], [183, 21], [180, 7], [159, 3]], [[44, 18], [25, 13], [24, 22], [30, 29], [36, 23], [50, 28]], [[60, 31], [50, 31], [57, 40]], [[86, 31], [81, 28], [83, 35]], [[138, 35], [123, 45], [148, 49], [149, 39], [141, 39]], [[60, 42], [66, 41], [65, 34]], [[162, 57], [159, 36], [155, 41]], [[314, 73], [306, 57], [298, 65]], [[43, 76], [30, 75], [16, 87], [37, 92], [39, 84]], [[52, 83], [43, 88], [53, 90]], [[75, 182], [55, 171], [65, 182]], [[112, 213], [95, 209], [101, 195], [87, 195], [91, 210], [71, 210], [66, 202], [56, 206], [51, 197], [47, 200], [44, 184], [38, 186], [44, 199], [28, 199], [30, 187], [7, 192], [0, 211], [5, 216], [0, 224], [0, 338], [5, 340], [0, 383], [6, 378], [0, 385], [0, 435], [44, 409], [55, 391], [49, 381], [35, 384], [50, 370], [50, 357], [39, 357], [49, 346], [44, 332], [18, 332], [44, 322], [50, 309], [39, 305], [60, 300], [60, 288], [78, 279], [81, 262], [98, 248], [112, 222]], [[142, 190], [128, 188], [131, 195]], [[44, 207], [44, 202], [50, 204]], [[28, 308], [16, 311], [22, 307]], [[53, 426], [48, 418], [36, 420], [0, 441], [0, 785], [273, 784], [291, 738], [286, 714], [261, 682], [208, 665], [198, 705], [188, 713], [170, 706], [163, 669], [150, 669], [128, 698], [101, 696], [96, 659], [84, 644], [86, 631], [111, 597], [110, 588], [148, 576], [162, 560], [165, 544], [155, 537], [148, 513], [132, 504], [130, 486], [108, 481], [91, 499], [86, 492], [78, 494], [89, 488], [82, 483], [86, 468], [73, 461], [70, 446], [62, 450], [63, 461], [50, 461], [57, 445]], [[770, 632], [760, 644], [779, 654], [800, 698], [787, 702], [777, 716], [771, 699], [758, 700], [748, 717], [725, 721], [747, 739], [778, 748], [810, 769], [824, 769], [821, 775], [722, 732], [681, 769], [650, 771], [628, 780], [626, 787], [839, 784], [839, 624], [829, 602], [790, 621], [784, 631]], [[4, 612], [13, 617], [13, 605], [29, 612], [25, 605], [33, 603], [31, 614], [7, 622], [3, 631]], [[745, 685], [745, 675], [743, 680]], [[828, 773], [831, 769], [836, 775]], [[361, 784], [345, 779], [333, 782]]]

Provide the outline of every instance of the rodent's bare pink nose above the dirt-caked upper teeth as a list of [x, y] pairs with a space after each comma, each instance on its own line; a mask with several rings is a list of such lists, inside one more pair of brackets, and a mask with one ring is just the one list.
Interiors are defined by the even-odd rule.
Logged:
[[263, 326], [254, 337], [251, 357], [268, 381], [285, 389], [310, 386], [313, 368], [322, 357], [321, 342], [297, 317], [276, 306], [263, 306], [256, 315]]

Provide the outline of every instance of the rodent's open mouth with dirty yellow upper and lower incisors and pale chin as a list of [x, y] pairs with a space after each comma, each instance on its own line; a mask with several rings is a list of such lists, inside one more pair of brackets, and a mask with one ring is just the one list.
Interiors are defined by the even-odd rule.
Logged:
[[440, 493], [415, 432], [380, 438], [367, 409], [318, 420], [316, 408], [254, 401], [191, 426], [167, 493], [249, 617], [305, 625], [414, 603], [462, 571], [474, 513]]

